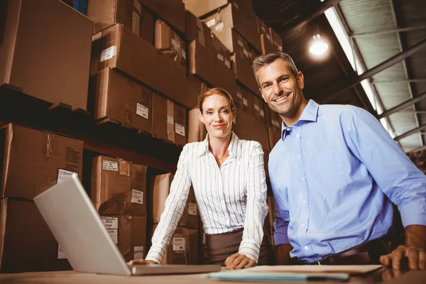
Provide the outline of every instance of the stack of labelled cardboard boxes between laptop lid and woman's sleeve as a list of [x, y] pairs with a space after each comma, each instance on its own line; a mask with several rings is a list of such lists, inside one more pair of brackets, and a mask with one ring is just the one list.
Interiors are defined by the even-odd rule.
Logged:
[[126, 261], [146, 256], [146, 166], [98, 156], [92, 202]]

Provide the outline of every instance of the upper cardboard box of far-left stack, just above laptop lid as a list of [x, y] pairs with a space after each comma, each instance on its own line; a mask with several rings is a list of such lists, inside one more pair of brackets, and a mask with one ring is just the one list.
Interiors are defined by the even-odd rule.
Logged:
[[81, 180], [83, 142], [7, 124], [0, 129], [0, 197], [33, 197], [69, 178]]

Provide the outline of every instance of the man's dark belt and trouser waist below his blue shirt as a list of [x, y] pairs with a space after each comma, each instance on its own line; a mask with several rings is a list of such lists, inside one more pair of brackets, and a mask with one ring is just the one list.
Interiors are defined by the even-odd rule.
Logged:
[[379, 258], [389, 253], [386, 239], [375, 239], [345, 251], [326, 256], [320, 261], [300, 263], [310, 265], [380, 264]]

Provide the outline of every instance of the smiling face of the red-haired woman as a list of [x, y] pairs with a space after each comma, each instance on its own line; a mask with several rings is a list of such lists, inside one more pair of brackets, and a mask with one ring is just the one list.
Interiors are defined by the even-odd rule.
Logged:
[[229, 136], [234, 115], [228, 99], [219, 94], [206, 97], [202, 103], [200, 121], [206, 126], [209, 136], [225, 138]]

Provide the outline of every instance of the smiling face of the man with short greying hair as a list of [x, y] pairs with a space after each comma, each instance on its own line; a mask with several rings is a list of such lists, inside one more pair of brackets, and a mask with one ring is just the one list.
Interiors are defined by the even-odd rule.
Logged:
[[285, 61], [278, 59], [258, 70], [258, 81], [262, 97], [273, 111], [289, 118], [298, 113], [303, 101], [302, 72], [295, 77]]

